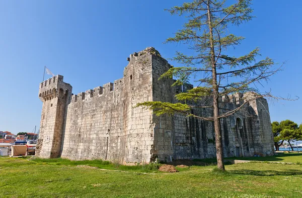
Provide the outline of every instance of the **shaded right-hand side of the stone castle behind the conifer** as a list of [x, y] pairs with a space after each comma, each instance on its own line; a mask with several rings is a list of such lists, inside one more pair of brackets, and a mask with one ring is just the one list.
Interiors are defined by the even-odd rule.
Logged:
[[[177, 103], [175, 94], [193, 88], [193, 85], [190, 84], [171, 87], [175, 82], [174, 80], [158, 80], [161, 74], [170, 68], [161, 57], [154, 57], [153, 68], [154, 101]], [[250, 100], [251, 96], [254, 97], [255, 95], [237, 93], [230, 98], [229, 96], [224, 97], [224, 103], [220, 103], [220, 114], [225, 113], [226, 110], [240, 107], [246, 100]], [[208, 99], [198, 103], [199, 106], [212, 104]], [[265, 111], [262, 111], [263, 109]], [[211, 108], [192, 111], [200, 117], [213, 115]], [[216, 156], [213, 122], [180, 114], [154, 116], [154, 122], [155, 150], [153, 152], [158, 160], [202, 159]], [[231, 117], [220, 119], [220, 130], [224, 157], [273, 154], [268, 104], [264, 98], [258, 98], [246, 104]]]

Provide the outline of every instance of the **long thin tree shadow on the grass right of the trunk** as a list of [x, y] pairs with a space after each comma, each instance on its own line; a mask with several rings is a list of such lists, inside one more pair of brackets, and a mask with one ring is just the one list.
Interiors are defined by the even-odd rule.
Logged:
[[255, 175], [255, 176], [275, 176], [275, 175], [302, 175], [301, 170], [286, 170], [286, 171], [277, 171], [277, 170], [229, 170], [228, 172], [233, 174], [246, 174], [246, 175]]

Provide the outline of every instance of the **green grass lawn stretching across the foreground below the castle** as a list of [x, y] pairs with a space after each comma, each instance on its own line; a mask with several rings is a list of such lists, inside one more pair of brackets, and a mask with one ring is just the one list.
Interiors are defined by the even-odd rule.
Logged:
[[[296, 163], [302, 155], [275, 157]], [[77, 166], [86, 164], [108, 170]], [[151, 165], [119, 166], [101, 160], [0, 157], [0, 197], [302, 197], [302, 165], [234, 164], [227, 165], [225, 173], [214, 168], [191, 166], [162, 173]]]

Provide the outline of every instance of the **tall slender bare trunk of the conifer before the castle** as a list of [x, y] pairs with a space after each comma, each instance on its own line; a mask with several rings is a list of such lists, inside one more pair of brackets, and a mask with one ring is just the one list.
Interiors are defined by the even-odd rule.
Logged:
[[212, 86], [213, 86], [213, 121], [214, 121], [214, 131], [215, 131], [215, 145], [216, 145], [216, 158], [217, 167], [221, 170], [224, 169], [223, 164], [223, 150], [222, 150], [222, 137], [219, 125], [219, 104], [218, 104], [218, 85], [217, 85], [217, 73], [215, 64], [215, 51], [213, 42], [213, 28], [211, 24], [211, 13], [210, 4], [207, 2], [207, 14], [208, 14], [208, 25], [210, 32], [210, 48], [211, 48], [211, 64], [212, 64]]

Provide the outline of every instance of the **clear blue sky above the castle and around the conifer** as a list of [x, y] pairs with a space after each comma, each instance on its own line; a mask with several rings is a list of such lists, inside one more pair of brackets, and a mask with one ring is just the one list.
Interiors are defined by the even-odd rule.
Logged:
[[[126, 58], [133, 52], [153, 46], [171, 58], [175, 50], [185, 49], [185, 45], [162, 44], [184, 22], [164, 9], [181, 3], [0, 1], [0, 131], [16, 134], [39, 126], [38, 90], [44, 65], [64, 75], [77, 94], [121, 78]], [[260, 47], [263, 58], [287, 60], [284, 71], [267, 86], [276, 95], [302, 96], [302, 1], [255, 0], [253, 4], [257, 18], [231, 28], [233, 34], [246, 37], [237, 55]], [[272, 121], [302, 123], [302, 99], [269, 105]]]

